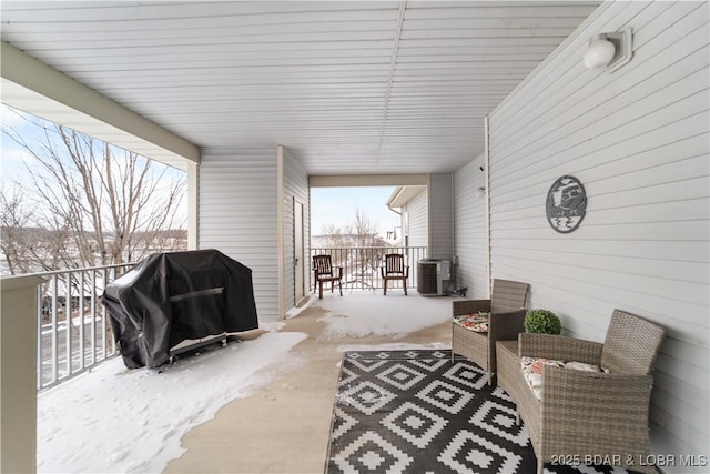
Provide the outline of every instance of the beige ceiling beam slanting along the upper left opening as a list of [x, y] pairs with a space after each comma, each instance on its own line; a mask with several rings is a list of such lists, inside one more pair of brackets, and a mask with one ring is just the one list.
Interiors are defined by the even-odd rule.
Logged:
[[116, 147], [187, 170], [200, 149], [80, 82], [2, 42], [2, 102]]

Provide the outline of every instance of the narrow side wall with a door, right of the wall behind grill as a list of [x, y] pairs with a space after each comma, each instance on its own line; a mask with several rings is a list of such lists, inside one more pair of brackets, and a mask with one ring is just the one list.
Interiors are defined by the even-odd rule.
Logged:
[[283, 161], [283, 204], [284, 204], [284, 309], [291, 310], [296, 305], [295, 301], [295, 283], [294, 283], [294, 245], [295, 245], [295, 224], [294, 224], [294, 199], [303, 203], [303, 246], [304, 246], [304, 292], [308, 294], [310, 283], [310, 262], [307, 261], [311, 251], [308, 249], [308, 215], [310, 192], [308, 175], [301, 164], [293, 158], [288, 150], [284, 149]]

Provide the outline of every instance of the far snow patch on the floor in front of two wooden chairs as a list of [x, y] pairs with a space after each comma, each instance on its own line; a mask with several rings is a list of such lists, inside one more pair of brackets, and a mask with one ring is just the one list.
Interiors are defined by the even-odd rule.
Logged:
[[452, 317], [449, 297], [419, 296], [390, 290], [387, 296], [378, 290], [345, 292], [343, 297], [329, 293], [320, 302], [329, 313], [320, 321], [327, 324], [321, 339], [390, 336], [402, 339], [409, 333], [444, 323]]

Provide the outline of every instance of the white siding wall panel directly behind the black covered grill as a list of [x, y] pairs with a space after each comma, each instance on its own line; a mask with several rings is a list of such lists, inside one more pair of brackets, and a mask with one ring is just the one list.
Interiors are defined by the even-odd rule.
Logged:
[[200, 164], [199, 246], [252, 269], [260, 320], [277, 319], [276, 149], [206, 149]]

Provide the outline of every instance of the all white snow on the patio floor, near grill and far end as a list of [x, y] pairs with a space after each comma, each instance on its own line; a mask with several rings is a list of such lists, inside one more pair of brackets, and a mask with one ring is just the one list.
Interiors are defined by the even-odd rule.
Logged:
[[[450, 317], [450, 302], [403, 300], [354, 292], [311, 300], [327, 311], [321, 339], [389, 336], [400, 339]], [[357, 304], [354, 303], [357, 299]], [[414, 300], [414, 301], [413, 301]], [[447, 300], [447, 299], [444, 299]], [[414, 303], [414, 304], [413, 304]], [[307, 306], [308, 306], [307, 305]], [[307, 307], [306, 306], [306, 307]], [[303, 311], [303, 309], [301, 310]], [[295, 317], [297, 312], [290, 314]], [[159, 473], [184, 452], [180, 440], [213, 418], [232, 400], [245, 397], [273, 380], [277, 371], [305, 363], [291, 350], [307, 335], [280, 332], [284, 323], [261, 323], [261, 336], [205, 349], [196, 357], [160, 370], [133, 370], [115, 357], [91, 373], [38, 397], [38, 472]], [[439, 347], [433, 342], [429, 347]], [[393, 342], [377, 349], [409, 349]], [[373, 346], [343, 345], [339, 351]]]

